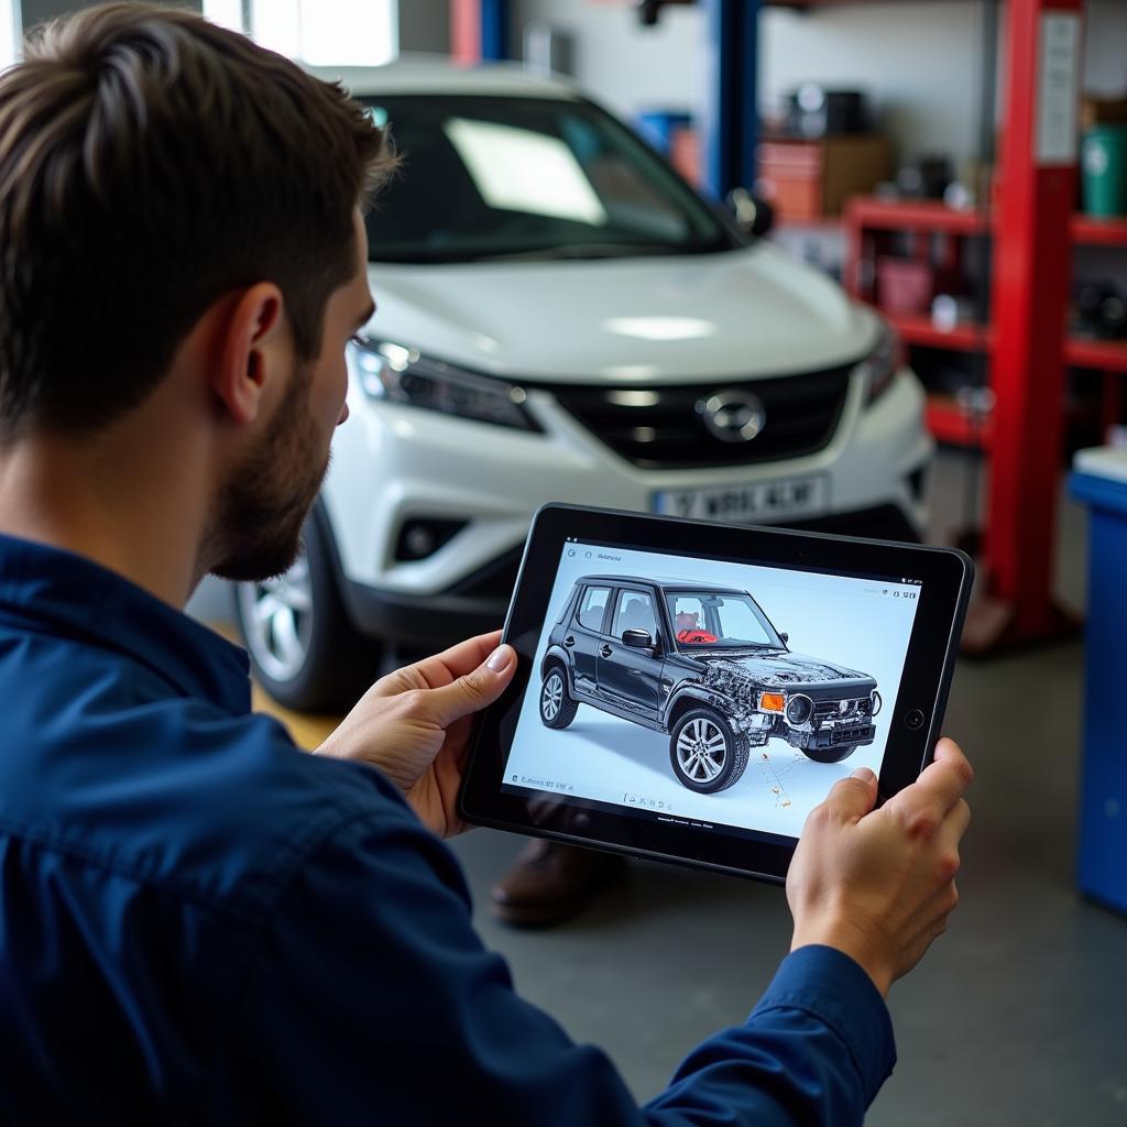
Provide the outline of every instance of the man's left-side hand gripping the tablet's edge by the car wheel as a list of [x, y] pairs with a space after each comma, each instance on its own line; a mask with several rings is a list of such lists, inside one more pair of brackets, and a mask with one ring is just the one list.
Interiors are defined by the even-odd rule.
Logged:
[[516, 672], [500, 631], [381, 677], [318, 748], [379, 767], [440, 837], [464, 829], [458, 816], [473, 713], [500, 696]]

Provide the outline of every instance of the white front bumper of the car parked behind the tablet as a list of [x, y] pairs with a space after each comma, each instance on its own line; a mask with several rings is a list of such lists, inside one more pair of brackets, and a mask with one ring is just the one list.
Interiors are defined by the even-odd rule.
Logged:
[[[618, 456], [547, 391], [529, 393], [542, 434], [372, 402], [350, 380], [350, 416], [334, 443], [322, 500], [340, 587], [357, 627], [405, 642], [441, 644], [500, 625], [532, 514], [549, 500], [651, 511], [663, 489], [738, 487], [822, 473], [823, 512], [787, 526], [917, 540], [932, 442], [923, 393], [907, 371], [871, 407], [851, 382], [824, 450], [784, 462], [646, 470]], [[397, 559], [406, 522], [460, 531], [425, 559]]]

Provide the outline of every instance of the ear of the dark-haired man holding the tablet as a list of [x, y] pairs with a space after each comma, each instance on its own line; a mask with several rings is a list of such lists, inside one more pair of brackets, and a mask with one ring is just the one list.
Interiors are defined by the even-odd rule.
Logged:
[[273, 282], [229, 299], [219, 326], [211, 388], [234, 423], [254, 423], [285, 360], [285, 308]]

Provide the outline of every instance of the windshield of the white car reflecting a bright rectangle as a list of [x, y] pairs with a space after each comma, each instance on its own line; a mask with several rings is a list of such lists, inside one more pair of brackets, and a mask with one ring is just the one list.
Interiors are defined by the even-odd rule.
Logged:
[[402, 166], [367, 214], [369, 259], [627, 258], [739, 239], [629, 128], [586, 101], [360, 99]]

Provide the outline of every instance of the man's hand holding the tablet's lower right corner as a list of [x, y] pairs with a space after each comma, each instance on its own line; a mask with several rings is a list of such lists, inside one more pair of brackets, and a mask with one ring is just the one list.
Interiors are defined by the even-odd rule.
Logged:
[[791, 950], [824, 943], [855, 959], [881, 994], [947, 930], [958, 904], [962, 798], [974, 772], [950, 739], [935, 761], [879, 810], [866, 767], [838, 780], [810, 811], [787, 877]]

